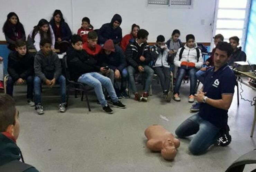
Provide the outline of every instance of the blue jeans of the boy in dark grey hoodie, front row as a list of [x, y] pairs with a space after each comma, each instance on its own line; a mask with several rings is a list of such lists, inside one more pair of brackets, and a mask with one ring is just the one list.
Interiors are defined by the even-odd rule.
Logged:
[[[41, 84], [42, 80], [35, 76], [34, 78], [34, 92], [35, 92], [35, 104], [41, 103]], [[60, 84], [61, 103], [66, 102], [66, 78], [60, 75], [56, 79], [56, 84]]]

